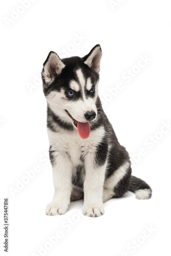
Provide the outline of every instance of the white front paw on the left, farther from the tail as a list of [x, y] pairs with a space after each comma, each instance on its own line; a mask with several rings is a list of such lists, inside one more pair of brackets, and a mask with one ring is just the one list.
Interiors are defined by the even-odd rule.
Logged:
[[68, 209], [68, 204], [62, 204], [62, 203], [56, 203], [51, 202], [46, 207], [46, 215], [48, 216], [54, 216], [54, 215], [62, 215], [66, 214]]

